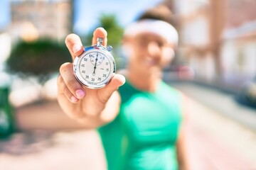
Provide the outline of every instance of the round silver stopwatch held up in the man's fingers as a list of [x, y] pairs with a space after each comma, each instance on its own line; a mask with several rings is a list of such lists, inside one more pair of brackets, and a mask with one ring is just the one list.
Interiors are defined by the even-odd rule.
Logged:
[[80, 84], [89, 89], [100, 89], [106, 86], [116, 72], [114, 57], [102, 45], [103, 38], [97, 38], [97, 44], [85, 47], [80, 56], [75, 57], [73, 71]]

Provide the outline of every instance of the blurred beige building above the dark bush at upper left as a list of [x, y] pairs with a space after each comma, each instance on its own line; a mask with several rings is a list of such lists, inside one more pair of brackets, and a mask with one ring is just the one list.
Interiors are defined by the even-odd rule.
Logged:
[[63, 40], [73, 29], [72, 0], [11, 0], [14, 38]]

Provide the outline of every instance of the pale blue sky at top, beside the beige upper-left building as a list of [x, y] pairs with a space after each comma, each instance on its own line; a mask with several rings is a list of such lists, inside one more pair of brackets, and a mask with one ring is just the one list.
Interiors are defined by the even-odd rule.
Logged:
[[[14, 0], [0, 0], [0, 31], [11, 21], [10, 1]], [[95, 27], [102, 13], [117, 15], [117, 20], [125, 26], [146, 8], [159, 2], [161, 0], [74, 0], [74, 31], [78, 34], [87, 33], [90, 28]]]

